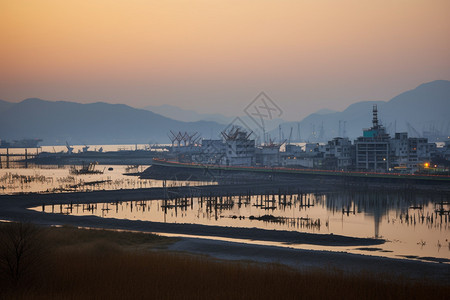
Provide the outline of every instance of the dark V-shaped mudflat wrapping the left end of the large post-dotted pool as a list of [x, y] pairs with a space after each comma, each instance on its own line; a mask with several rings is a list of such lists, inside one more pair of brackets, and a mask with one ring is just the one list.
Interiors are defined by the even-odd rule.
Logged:
[[260, 184], [229, 185], [229, 186], [201, 186], [201, 187], [171, 187], [148, 188], [137, 190], [97, 191], [84, 193], [59, 194], [26, 194], [1, 195], [0, 219], [9, 221], [31, 222], [42, 225], [73, 225], [83, 227], [123, 229], [145, 232], [161, 232], [171, 234], [187, 234], [196, 236], [215, 236], [225, 238], [240, 238], [282, 243], [310, 244], [323, 246], [369, 246], [383, 244], [384, 240], [372, 238], [355, 238], [333, 234], [312, 234], [296, 231], [267, 230], [258, 228], [237, 228], [207, 226], [198, 224], [160, 223], [150, 221], [119, 220], [99, 218], [95, 216], [69, 216], [61, 214], [42, 213], [30, 210], [31, 207], [42, 205], [63, 205], [83, 203], [111, 203], [131, 200], [162, 199], [167, 192], [180, 196], [191, 195], [245, 195], [264, 194], [270, 192], [309, 193], [326, 192], [328, 189], [308, 188], [300, 190], [297, 186]]

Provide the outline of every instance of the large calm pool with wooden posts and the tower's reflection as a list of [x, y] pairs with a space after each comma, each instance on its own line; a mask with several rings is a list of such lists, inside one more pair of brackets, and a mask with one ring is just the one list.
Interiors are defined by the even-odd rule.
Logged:
[[[188, 198], [46, 206], [35, 210], [78, 216], [168, 223], [257, 227], [300, 232], [374, 237], [388, 240], [374, 247], [308, 247], [387, 257], [450, 259], [448, 215], [440, 214], [440, 196], [397, 193], [342, 192], [234, 196], [222, 199]], [[448, 204], [443, 204], [449, 210]], [[367, 248], [367, 249], [366, 249]], [[428, 259], [429, 260], [429, 259]], [[450, 261], [449, 261], [450, 262]]]

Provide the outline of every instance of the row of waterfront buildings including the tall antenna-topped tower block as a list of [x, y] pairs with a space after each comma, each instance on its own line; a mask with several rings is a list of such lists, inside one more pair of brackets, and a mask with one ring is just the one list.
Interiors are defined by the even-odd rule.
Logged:
[[[336, 137], [327, 144], [282, 144], [270, 141], [256, 145], [252, 132], [233, 126], [222, 132], [222, 139], [203, 139], [187, 133], [172, 133], [171, 155], [183, 161], [226, 166], [263, 166], [315, 168], [339, 171], [413, 173], [429, 162], [436, 153], [436, 144], [426, 138], [396, 133], [394, 138], [378, 120], [374, 105], [372, 127], [354, 140]], [[270, 139], [269, 139], [270, 140]], [[450, 153], [449, 143], [440, 150], [444, 159]]]

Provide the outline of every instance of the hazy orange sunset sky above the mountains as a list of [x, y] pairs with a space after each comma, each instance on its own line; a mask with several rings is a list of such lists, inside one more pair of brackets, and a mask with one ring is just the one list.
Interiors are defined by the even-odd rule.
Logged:
[[0, 99], [296, 120], [450, 80], [449, 0], [0, 0]]

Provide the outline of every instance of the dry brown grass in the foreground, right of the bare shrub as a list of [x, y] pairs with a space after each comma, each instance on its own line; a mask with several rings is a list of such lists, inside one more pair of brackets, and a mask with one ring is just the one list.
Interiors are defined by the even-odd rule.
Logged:
[[[68, 234], [70, 233], [70, 234]], [[51, 261], [11, 299], [445, 299], [450, 287], [339, 271], [298, 272], [270, 264], [147, 251], [170, 242], [145, 234], [48, 230]], [[147, 245], [138, 247], [138, 245]], [[1, 292], [0, 292], [1, 298]]]

